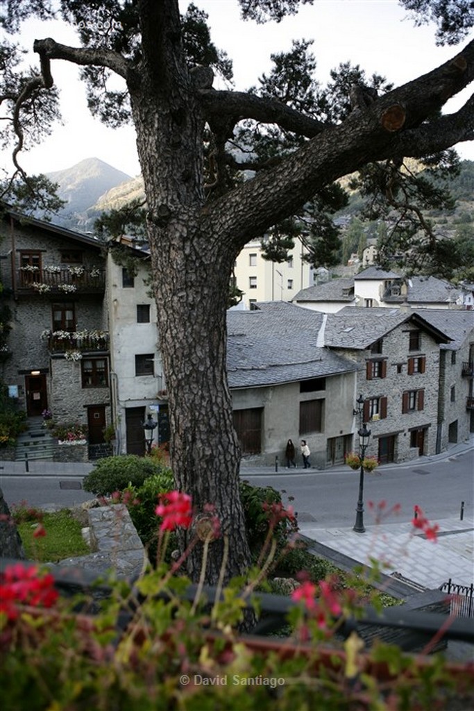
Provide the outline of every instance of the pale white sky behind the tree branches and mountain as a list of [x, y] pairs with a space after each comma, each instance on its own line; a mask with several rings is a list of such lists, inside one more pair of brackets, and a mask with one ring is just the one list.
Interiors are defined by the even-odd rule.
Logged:
[[[456, 55], [465, 44], [436, 47], [434, 26], [415, 27], [397, 0], [315, 0], [313, 6], [303, 6], [296, 16], [264, 25], [242, 21], [235, 0], [194, 3], [208, 13], [214, 43], [233, 60], [237, 90], [257, 85], [258, 78], [271, 69], [271, 53], [289, 50], [293, 39], [313, 39], [316, 78], [321, 84], [328, 81], [331, 69], [350, 60], [367, 75], [377, 72], [396, 86], [402, 85]], [[188, 0], [180, 4], [185, 11]], [[38, 63], [38, 55], [32, 51], [33, 40], [45, 37], [79, 45], [73, 29], [60, 21], [28, 21], [20, 41], [30, 50], [27, 60], [33, 66]], [[97, 157], [130, 176], [139, 174], [133, 128], [108, 129], [91, 117], [77, 67], [55, 61], [52, 72], [61, 92], [63, 125], [56, 124], [51, 137], [24, 153], [22, 165], [31, 173], [48, 173]], [[469, 89], [454, 97], [445, 112], [456, 111], [468, 95]], [[474, 160], [473, 142], [460, 144], [458, 151], [461, 158]], [[1, 166], [11, 168], [5, 152]]]

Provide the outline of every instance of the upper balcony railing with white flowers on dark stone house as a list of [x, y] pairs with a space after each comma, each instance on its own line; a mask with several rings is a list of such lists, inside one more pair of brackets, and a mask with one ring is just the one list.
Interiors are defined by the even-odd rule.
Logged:
[[30, 294], [101, 293], [105, 288], [103, 269], [87, 267], [21, 267], [17, 289]]

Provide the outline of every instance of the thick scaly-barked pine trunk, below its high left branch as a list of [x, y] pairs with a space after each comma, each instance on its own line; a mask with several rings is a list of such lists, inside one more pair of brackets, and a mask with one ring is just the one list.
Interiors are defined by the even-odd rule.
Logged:
[[[163, 77], [161, 77], [163, 78]], [[226, 310], [235, 247], [201, 232], [203, 117], [189, 77], [168, 92], [143, 83], [131, 92], [137, 146], [149, 207], [147, 218], [158, 338], [171, 424], [171, 464], [178, 488], [193, 497], [195, 514], [215, 506], [228, 537], [225, 579], [249, 565], [239, 497], [239, 444], [226, 374]], [[185, 86], [185, 83], [188, 85]], [[187, 545], [195, 535], [182, 535]], [[210, 543], [206, 581], [217, 582], [224, 538]], [[198, 579], [203, 544], [188, 557]], [[226, 554], [227, 555], [227, 554]]]

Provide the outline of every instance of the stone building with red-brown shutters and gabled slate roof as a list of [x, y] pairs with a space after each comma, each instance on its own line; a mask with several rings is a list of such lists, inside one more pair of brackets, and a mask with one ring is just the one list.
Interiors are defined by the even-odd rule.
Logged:
[[367, 454], [382, 463], [436, 451], [440, 344], [446, 333], [418, 313], [352, 309], [328, 314], [324, 343], [358, 365]]

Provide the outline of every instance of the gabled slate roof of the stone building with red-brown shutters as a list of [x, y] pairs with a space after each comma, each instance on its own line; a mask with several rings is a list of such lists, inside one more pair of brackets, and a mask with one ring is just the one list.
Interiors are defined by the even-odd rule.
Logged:
[[[428, 311], [429, 309], [426, 309]], [[413, 320], [438, 342], [446, 343], [449, 336], [444, 328], [438, 328], [424, 318], [423, 314], [402, 309], [354, 309], [345, 306], [337, 314], [328, 314], [325, 326], [325, 346], [363, 350], [393, 331], [394, 328]]]

